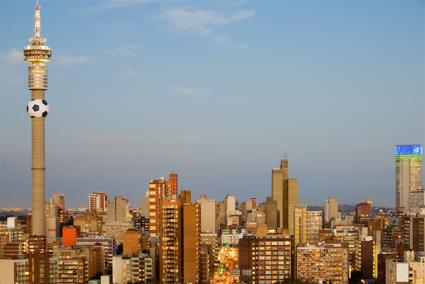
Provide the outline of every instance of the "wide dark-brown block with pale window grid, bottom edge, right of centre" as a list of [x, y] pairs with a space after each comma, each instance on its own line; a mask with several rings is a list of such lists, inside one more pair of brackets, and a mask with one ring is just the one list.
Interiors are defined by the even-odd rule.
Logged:
[[241, 282], [277, 283], [291, 278], [289, 236], [245, 235], [239, 240]]

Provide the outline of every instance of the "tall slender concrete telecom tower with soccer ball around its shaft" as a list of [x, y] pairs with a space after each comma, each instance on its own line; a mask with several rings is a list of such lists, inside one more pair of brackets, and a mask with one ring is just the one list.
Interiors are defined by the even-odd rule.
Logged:
[[27, 113], [32, 124], [32, 234], [46, 235], [45, 224], [45, 142], [44, 119], [49, 107], [44, 98], [47, 89], [47, 65], [52, 56], [51, 49], [41, 38], [40, 5], [35, 6], [34, 37], [24, 48], [24, 59], [31, 64], [28, 67], [28, 89], [31, 90], [31, 101], [27, 105]]

